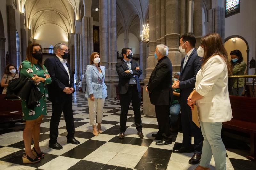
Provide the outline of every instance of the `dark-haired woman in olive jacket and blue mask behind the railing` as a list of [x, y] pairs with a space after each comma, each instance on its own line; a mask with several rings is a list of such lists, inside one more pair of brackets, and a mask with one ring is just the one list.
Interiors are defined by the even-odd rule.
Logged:
[[[239, 51], [238, 49], [231, 51], [230, 56], [231, 56], [230, 63], [233, 66], [232, 76], [244, 75], [244, 71], [246, 69], [246, 63], [243, 61], [243, 56], [241, 51]], [[242, 96], [242, 92], [244, 90], [244, 78], [238, 79], [238, 87], [237, 87], [237, 78], [232, 78], [231, 81], [232, 81], [232, 94], [234, 96], [237, 96], [237, 91], [238, 91], [238, 96]]]

